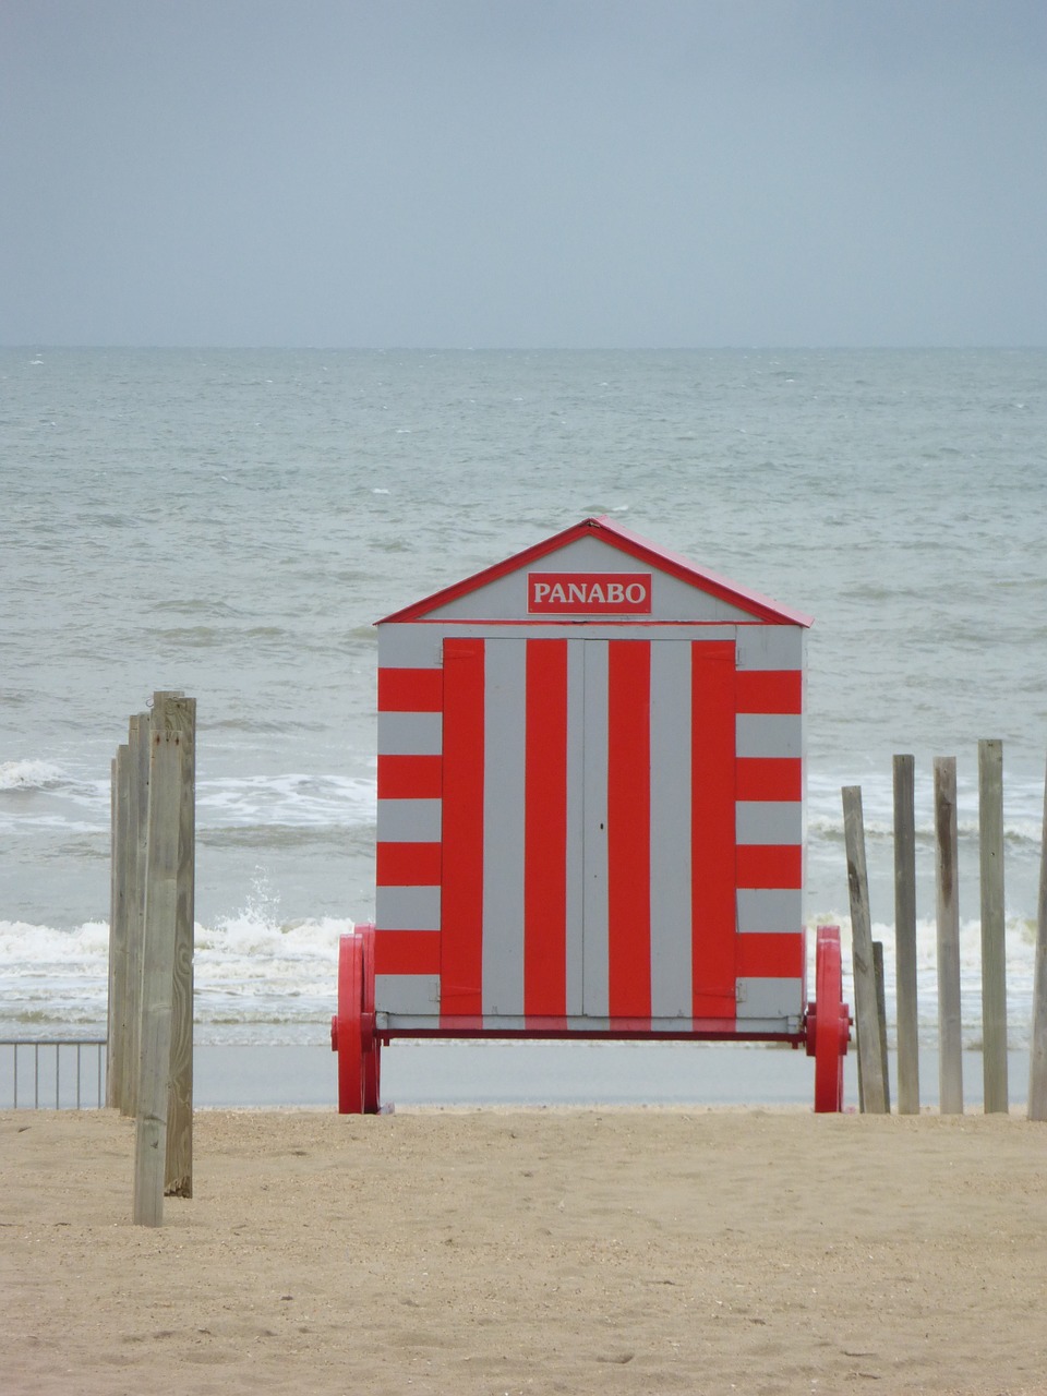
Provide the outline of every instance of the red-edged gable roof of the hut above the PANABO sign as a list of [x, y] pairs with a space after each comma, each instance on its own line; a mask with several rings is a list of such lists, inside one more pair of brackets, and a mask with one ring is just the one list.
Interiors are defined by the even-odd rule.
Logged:
[[606, 515], [600, 518], [582, 519], [581, 524], [572, 524], [570, 528], [563, 529], [560, 533], [554, 533], [542, 543], [535, 543], [530, 547], [524, 549], [522, 553], [515, 553], [512, 557], [507, 557], [501, 563], [494, 563], [493, 567], [486, 567], [483, 571], [475, 572], [472, 577], [466, 577], [461, 582], [444, 586], [441, 591], [434, 592], [431, 596], [426, 596], [423, 600], [412, 602], [410, 606], [405, 606], [402, 610], [394, 611], [391, 616], [384, 616], [380, 621], [376, 621], [376, 624], [384, 625], [389, 621], [424, 620], [434, 610], [438, 610], [441, 606], [447, 606], [448, 602], [456, 600], [461, 596], [468, 596], [470, 592], [480, 591], [480, 588], [489, 586], [491, 582], [498, 581], [498, 578], [521, 571], [532, 563], [536, 563], [540, 558], [547, 557], [550, 553], [556, 553], [560, 549], [567, 547], [568, 543], [574, 543], [582, 537], [597, 537], [602, 543], [618, 549], [618, 551], [625, 553], [628, 557], [646, 563], [649, 567], [653, 567], [660, 572], [676, 577], [698, 591], [736, 606], [754, 620], [778, 625], [803, 625], [804, 628], [814, 624], [810, 616], [804, 616], [801, 611], [780, 606], [778, 602], [771, 600], [768, 596], [762, 596], [759, 592], [751, 592], [745, 588], [737, 586], [734, 582], [727, 581], [726, 577], [719, 577], [716, 572], [709, 572], [702, 567], [695, 567], [694, 563], [688, 563], [687, 558], [680, 557], [677, 553], [670, 553], [658, 547], [655, 543], [649, 542], [649, 539], [641, 537], [639, 533], [634, 533], [631, 529], [623, 528]]

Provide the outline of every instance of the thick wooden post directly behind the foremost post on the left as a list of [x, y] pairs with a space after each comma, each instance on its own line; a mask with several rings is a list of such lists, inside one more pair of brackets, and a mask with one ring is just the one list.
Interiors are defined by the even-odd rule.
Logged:
[[195, 698], [158, 692], [152, 730], [180, 736], [179, 868], [174, 926], [174, 981], [170, 1027], [170, 1096], [165, 1192], [193, 1196], [193, 951], [195, 856]]

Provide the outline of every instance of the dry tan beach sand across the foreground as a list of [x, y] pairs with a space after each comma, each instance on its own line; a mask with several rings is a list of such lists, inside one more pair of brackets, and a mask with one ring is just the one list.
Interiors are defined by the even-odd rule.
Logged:
[[804, 1110], [0, 1114], [4, 1393], [1047, 1392], [1047, 1127]]

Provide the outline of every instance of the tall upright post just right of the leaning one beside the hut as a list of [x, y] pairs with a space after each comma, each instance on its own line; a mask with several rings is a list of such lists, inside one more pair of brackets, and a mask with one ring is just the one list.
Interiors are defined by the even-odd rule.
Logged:
[[898, 1113], [920, 1114], [920, 1037], [916, 997], [916, 780], [912, 757], [895, 757], [895, 1002]]

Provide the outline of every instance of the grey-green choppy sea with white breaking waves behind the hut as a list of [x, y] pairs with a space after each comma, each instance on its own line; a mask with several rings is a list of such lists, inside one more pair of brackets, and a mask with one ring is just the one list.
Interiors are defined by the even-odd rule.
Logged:
[[374, 621], [589, 515], [814, 616], [807, 924], [842, 927], [846, 967], [857, 785], [891, 1025], [892, 755], [913, 754], [928, 1046], [933, 761], [958, 761], [977, 1048], [977, 748], [1002, 741], [1027, 1048], [1047, 757], [1047, 350], [1027, 349], [0, 350], [0, 1037], [105, 1032], [110, 762], [174, 688], [198, 712], [197, 1041], [325, 1043], [339, 934], [374, 910]]

